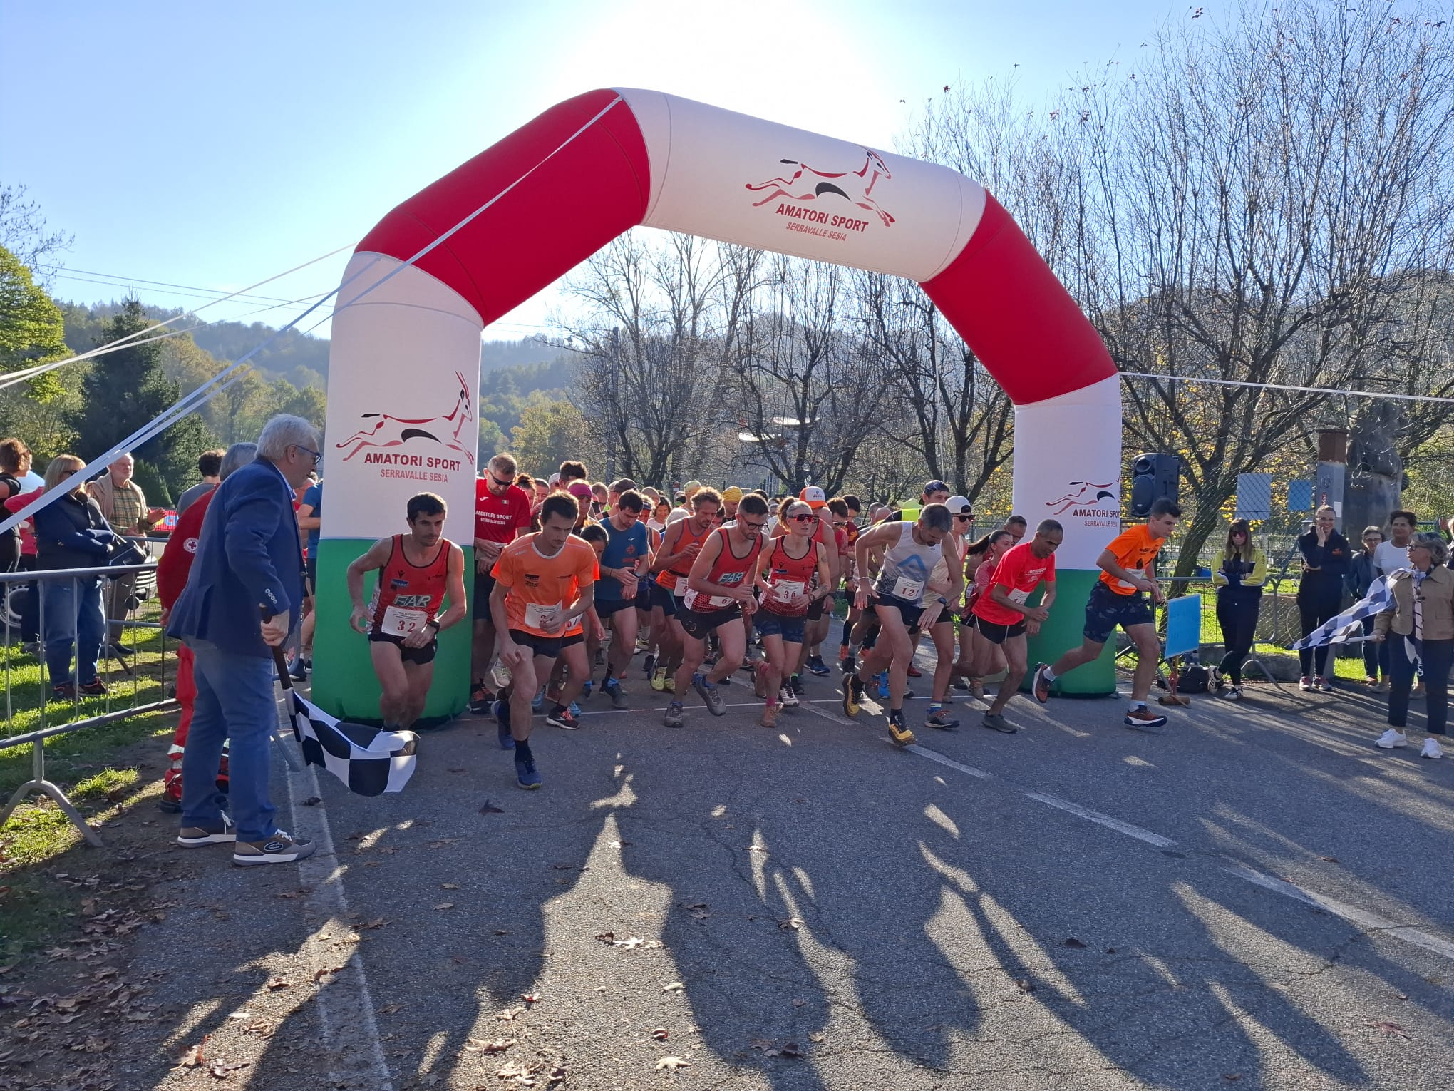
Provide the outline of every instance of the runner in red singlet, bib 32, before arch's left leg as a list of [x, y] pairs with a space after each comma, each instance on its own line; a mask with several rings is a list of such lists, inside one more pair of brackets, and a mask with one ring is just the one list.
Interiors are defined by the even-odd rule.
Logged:
[[[443, 537], [445, 502], [433, 493], [409, 497], [409, 534], [375, 541], [349, 564], [349, 624], [369, 639], [374, 674], [384, 695], [378, 711], [388, 730], [407, 730], [425, 710], [435, 679], [439, 633], [462, 621], [464, 550]], [[364, 605], [364, 573], [378, 570], [374, 601]], [[449, 608], [439, 612], [445, 598]]]

